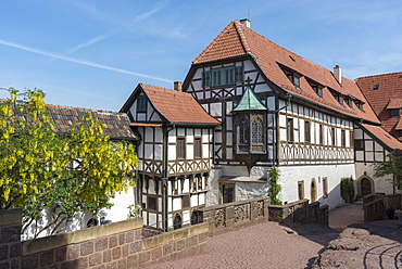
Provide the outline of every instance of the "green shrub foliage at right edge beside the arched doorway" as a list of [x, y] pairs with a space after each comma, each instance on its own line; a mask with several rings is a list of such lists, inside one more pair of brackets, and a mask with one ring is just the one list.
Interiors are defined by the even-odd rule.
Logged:
[[395, 151], [387, 155], [387, 159], [374, 164], [374, 177], [388, 177], [387, 179], [402, 189], [402, 156]]

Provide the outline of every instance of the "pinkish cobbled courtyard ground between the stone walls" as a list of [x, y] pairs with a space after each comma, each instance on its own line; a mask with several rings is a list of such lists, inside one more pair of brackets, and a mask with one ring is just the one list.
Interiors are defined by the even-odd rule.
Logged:
[[211, 236], [206, 254], [172, 260], [149, 268], [310, 268], [328, 243], [351, 223], [363, 222], [361, 203], [329, 213], [329, 227], [266, 222]]

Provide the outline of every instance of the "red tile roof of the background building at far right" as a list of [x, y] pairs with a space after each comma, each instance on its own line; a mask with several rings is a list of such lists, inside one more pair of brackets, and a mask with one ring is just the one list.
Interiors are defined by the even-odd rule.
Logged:
[[[392, 136], [398, 136], [394, 127], [398, 118], [390, 118], [388, 105], [394, 107], [402, 97], [402, 72], [360, 77], [356, 79], [359, 88], [363, 91], [378, 118], [382, 121], [382, 128]], [[378, 86], [378, 89], [375, 89]], [[398, 105], [397, 105], [398, 106]], [[389, 107], [391, 108], [391, 107]]]

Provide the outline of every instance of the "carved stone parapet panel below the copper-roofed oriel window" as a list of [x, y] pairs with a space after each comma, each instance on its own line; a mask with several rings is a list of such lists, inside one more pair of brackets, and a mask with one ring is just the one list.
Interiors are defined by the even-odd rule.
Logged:
[[269, 197], [221, 204], [200, 208], [201, 219], [210, 234], [230, 231], [268, 220]]

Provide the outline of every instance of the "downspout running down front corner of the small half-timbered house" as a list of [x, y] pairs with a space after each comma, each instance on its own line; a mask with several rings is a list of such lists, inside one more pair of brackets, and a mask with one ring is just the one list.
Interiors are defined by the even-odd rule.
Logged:
[[162, 171], [162, 187], [163, 187], [163, 198], [162, 198], [162, 218], [163, 218], [163, 229], [167, 232], [168, 221], [167, 221], [167, 206], [168, 206], [168, 132], [175, 129], [175, 125], [172, 128], [166, 129], [163, 136], [163, 171]]

